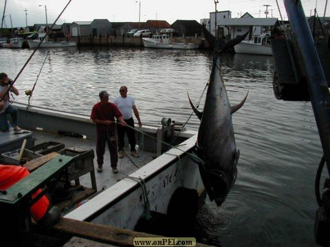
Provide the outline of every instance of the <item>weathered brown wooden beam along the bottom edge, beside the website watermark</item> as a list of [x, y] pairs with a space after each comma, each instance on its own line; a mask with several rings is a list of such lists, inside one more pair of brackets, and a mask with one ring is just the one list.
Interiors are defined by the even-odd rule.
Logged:
[[[53, 226], [52, 230], [114, 246], [134, 246], [133, 239], [135, 237], [164, 237], [64, 217]], [[196, 246], [204, 247], [208, 245], [197, 243]]]

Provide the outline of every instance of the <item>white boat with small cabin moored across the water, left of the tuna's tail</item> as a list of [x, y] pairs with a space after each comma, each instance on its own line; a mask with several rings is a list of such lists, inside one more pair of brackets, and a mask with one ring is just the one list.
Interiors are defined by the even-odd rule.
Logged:
[[155, 34], [152, 38], [142, 38], [144, 47], [158, 49], [198, 49], [195, 43], [175, 43], [168, 34]]

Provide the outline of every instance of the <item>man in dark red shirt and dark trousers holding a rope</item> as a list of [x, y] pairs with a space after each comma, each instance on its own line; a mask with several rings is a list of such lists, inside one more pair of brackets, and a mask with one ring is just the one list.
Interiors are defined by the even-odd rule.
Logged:
[[122, 113], [115, 104], [109, 102], [109, 94], [107, 91], [99, 93], [100, 102], [95, 104], [91, 110], [91, 120], [96, 124], [96, 156], [98, 162], [98, 172], [102, 172], [104, 162], [105, 143], [108, 143], [110, 152], [110, 163], [113, 173], [118, 173], [117, 162], [117, 141], [115, 137], [116, 125], [115, 118], [120, 121], [122, 126], [126, 126], [126, 122], [122, 119]]

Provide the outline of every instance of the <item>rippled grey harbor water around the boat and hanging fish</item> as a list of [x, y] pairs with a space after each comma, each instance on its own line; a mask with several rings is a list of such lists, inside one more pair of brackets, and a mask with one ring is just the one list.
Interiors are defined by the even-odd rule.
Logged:
[[[205, 101], [212, 52], [136, 48], [1, 49], [0, 71], [14, 79], [28, 104], [90, 115], [98, 93], [110, 100], [126, 85], [135, 98], [142, 124], [163, 117], [198, 130], [194, 104]], [[248, 93], [232, 115], [239, 174], [227, 199], [217, 208], [206, 200], [197, 215], [199, 241], [223, 247], [318, 246], [314, 217], [316, 170], [322, 149], [310, 102], [283, 102], [272, 91], [274, 58], [223, 54], [223, 77], [231, 104]], [[23, 67], [25, 68], [23, 69]], [[23, 71], [22, 71], [23, 69]], [[35, 85], [35, 86], [34, 86]], [[221, 148], [221, 147], [219, 147]], [[324, 172], [325, 173], [325, 172]], [[322, 178], [324, 181], [325, 174]]]

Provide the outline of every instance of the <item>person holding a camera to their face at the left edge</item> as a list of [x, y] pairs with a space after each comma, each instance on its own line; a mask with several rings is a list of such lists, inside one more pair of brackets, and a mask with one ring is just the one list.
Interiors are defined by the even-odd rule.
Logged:
[[14, 93], [14, 95], [19, 95], [19, 91], [12, 85], [12, 80], [8, 78], [8, 75], [6, 73], [0, 73], [0, 130], [2, 132], [9, 131], [10, 124], [7, 119], [8, 114], [12, 117], [14, 130], [21, 130], [18, 126], [19, 109], [10, 104], [9, 91]]

